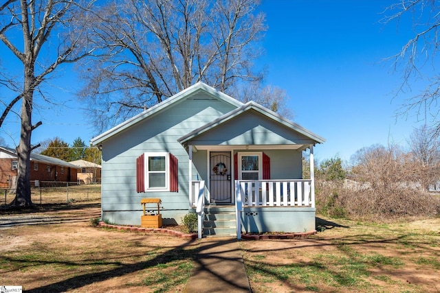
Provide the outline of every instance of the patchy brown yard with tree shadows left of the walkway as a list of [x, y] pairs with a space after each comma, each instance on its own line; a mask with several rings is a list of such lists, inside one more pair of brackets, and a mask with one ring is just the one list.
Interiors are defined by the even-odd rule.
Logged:
[[[80, 211], [95, 215], [94, 209]], [[78, 210], [33, 213], [75, 218]], [[19, 222], [23, 215], [10, 219]], [[25, 217], [27, 220], [28, 215]], [[91, 217], [93, 218], [93, 217]], [[90, 219], [0, 229], [0, 284], [25, 292], [181, 292], [199, 242], [90, 226]]]

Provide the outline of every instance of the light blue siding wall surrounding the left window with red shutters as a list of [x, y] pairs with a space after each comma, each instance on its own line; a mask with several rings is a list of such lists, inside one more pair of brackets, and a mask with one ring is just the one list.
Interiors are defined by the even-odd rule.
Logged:
[[[140, 200], [148, 197], [161, 198], [162, 218], [168, 219], [164, 224], [179, 223], [188, 213], [189, 183], [188, 153], [177, 139], [233, 109], [220, 100], [184, 99], [104, 141], [102, 218], [118, 224], [140, 224]], [[170, 152], [177, 157], [179, 192], [136, 193], [136, 158], [144, 152]], [[192, 180], [197, 174], [199, 178], [206, 176], [206, 152], [195, 156], [198, 160]]]

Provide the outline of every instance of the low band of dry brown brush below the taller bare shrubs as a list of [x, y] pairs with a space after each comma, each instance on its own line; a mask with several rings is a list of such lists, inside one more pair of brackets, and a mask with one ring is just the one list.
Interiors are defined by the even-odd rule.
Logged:
[[321, 183], [316, 189], [316, 212], [330, 218], [390, 222], [439, 216], [440, 200], [421, 190], [405, 187], [374, 188], [355, 182]]

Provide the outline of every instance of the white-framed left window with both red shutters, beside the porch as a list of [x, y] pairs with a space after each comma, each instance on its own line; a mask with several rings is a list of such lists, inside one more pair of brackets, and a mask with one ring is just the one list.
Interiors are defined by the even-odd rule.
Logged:
[[177, 159], [168, 152], [146, 152], [136, 159], [137, 192], [178, 191]]

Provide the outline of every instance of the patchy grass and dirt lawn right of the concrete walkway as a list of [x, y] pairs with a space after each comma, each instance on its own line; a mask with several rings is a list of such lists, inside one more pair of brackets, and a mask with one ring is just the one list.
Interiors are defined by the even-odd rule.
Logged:
[[[256, 293], [277, 288], [283, 292], [426, 292], [423, 281], [412, 283], [398, 272], [410, 266], [430, 270], [422, 274], [437, 274], [440, 253], [432, 247], [439, 245], [440, 234], [408, 230], [404, 224], [353, 222], [350, 228], [326, 229], [311, 237], [309, 244], [307, 240], [285, 242], [281, 253], [270, 244], [253, 253], [254, 246], [243, 242], [245, 268]], [[326, 233], [330, 236], [320, 239]]]

